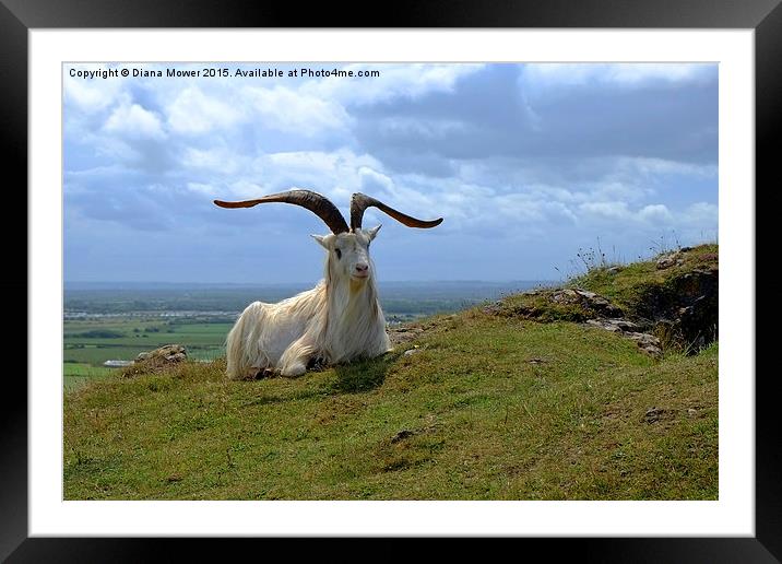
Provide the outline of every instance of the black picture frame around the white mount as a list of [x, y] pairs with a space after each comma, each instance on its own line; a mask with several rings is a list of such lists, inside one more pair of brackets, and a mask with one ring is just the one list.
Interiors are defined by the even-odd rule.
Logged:
[[[13, 210], [2, 222], [4, 250], [15, 251], [15, 269], [0, 281], [14, 319], [29, 299], [27, 248], [16, 242], [22, 227], [13, 221], [27, 211], [27, 32], [34, 28], [87, 27], [620, 27], [755, 30], [756, 211], [773, 213], [780, 168], [774, 141], [780, 138], [782, 105], [781, 0], [395, 0], [383, 17], [377, 7], [362, 11], [347, 4], [312, 3], [306, 10], [283, 2], [216, 0], [0, 0], [0, 138], [4, 203]], [[381, 8], [382, 10], [382, 8]], [[757, 189], [762, 187], [762, 189]], [[751, 189], [748, 187], [747, 189]], [[761, 205], [761, 202], [765, 205]], [[26, 215], [25, 215], [26, 216]], [[773, 235], [763, 233], [756, 213], [756, 259], [774, 257]], [[770, 222], [762, 225], [768, 226]], [[765, 236], [761, 236], [765, 235]], [[767, 252], [763, 252], [767, 251]], [[771, 258], [770, 260], [773, 260]], [[757, 265], [757, 260], [756, 260]], [[16, 272], [15, 275], [11, 272]], [[20, 272], [24, 272], [21, 274]], [[757, 267], [755, 270], [757, 277]], [[769, 292], [771, 290], [769, 289]], [[756, 278], [756, 296], [765, 296]], [[773, 294], [768, 294], [773, 295]], [[775, 299], [775, 298], [772, 298]], [[25, 312], [21, 309], [25, 306]], [[763, 307], [771, 319], [774, 307]], [[24, 317], [26, 319], [26, 315]], [[756, 318], [757, 319], [757, 318]], [[27, 326], [25, 325], [25, 328]], [[759, 334], [759, 325], [755, 330]], [[28, 336], [35, 339], [34, 334]], [[756, 345], [756, 350], [758, 349]], [[14, 353], [16, 359], [22, 355]], [[23, 368], [26, 374], [26, 362]], [[758, 365], [760, 366], [760, 365]], [[15, 368], [15, 367], [14, 367]], [[21, 367], [20, 367], [21, 368]], [[27, 386], [21, 369], [7, 368], [0, 395], [0, 560], [8, 562], [142, 562], [181, 554], [185, 542], [205, 560], [203, 540], [28, 538], [27, 534]], [[756, 376], [738, 375], [738, 376]], [[600, 562], [779, 562], [782, 559], [780, 424], [773, 393], [775, 371], [757, 371], [756, 389], [756, 536], [754, 538], [522, 539], [548, 555], [577, 553]], [[246, 550], [244, 540], [236, 543]], [[258, 539], [270, 543], [271, 539]], [[384, 542], [391, 542], [387, 539]], [[224, 544], [224, 543], [221, 543]], [[221, 547], [221, 560], [228, 555]], [[266, 550], [269, 548], [266, 547]], [[260, 556], [260, 555], [259, 555]]]

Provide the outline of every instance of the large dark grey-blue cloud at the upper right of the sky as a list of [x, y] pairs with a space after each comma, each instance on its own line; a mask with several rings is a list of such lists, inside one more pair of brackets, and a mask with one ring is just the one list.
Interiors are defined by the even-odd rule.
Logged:
[[422, 155], [442, 174], [454, 160], [497, 157], [716, 162], [713, 81], [668, 87], [648, 77], [643, 87], [594, 81], [570, 87], [538, 84], [516, 64], [470, 78], [447, 92], [363, 106], [354, 129], [359, 149], [401, 173], [419, 166]]

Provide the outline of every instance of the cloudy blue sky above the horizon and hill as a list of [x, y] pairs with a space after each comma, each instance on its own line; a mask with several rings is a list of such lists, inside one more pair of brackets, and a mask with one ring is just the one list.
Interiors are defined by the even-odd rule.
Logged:
[[[354, 77], [315, 72], [334, 69]], [[248, 75], [264, 70], [283, 75]], [[315, 282], [315, 214], [212, 203], [291, 188], [348, 222], [356, 191], [445, 219], [369, 209], [380, 281], [561, 280], [590, 251], [718, 238], [716, 64], [71, 64], [63, 81], [68, 282]]]

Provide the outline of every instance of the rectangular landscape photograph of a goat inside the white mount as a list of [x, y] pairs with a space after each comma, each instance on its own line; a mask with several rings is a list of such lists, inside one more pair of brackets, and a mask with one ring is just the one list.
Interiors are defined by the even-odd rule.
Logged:
[[63, 501], [720, 501], [719, 62], [61, 73]]

